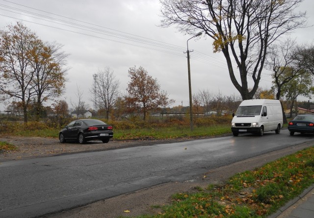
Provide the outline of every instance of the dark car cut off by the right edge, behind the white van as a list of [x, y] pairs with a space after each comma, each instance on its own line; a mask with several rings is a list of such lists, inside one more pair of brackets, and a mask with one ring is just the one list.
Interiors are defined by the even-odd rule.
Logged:
[[296, 116], [288, 123], [288, 130], [290, 131], [290, 136], [293, 136], [295, 132], [314, 133], [314, 115], [303, 114]]

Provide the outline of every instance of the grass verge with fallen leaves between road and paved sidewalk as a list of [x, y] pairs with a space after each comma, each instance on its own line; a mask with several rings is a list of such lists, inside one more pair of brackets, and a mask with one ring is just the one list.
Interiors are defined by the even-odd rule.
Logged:
[[[227, 184], [173, 195], [157, 215], [137, 218], [264, 218], [314, 183], [314, 147], [235, 174]], [[156, 205], [155, 205], [156, 207]]]

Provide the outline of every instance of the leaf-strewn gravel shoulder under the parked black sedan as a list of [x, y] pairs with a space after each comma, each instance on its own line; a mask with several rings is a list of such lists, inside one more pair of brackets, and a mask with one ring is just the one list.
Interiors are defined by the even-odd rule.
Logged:
[[134, 146], [167, 144], [186, 140], [110, 140], [109, 143], [90, 141], [84, 145], [76, 142], [60, 143], [57, 138], [1, 136], [0, 141], [15, 145], [15, 151], [0, 153], [0, 163], [5, 161], [25, 160], [50, 157], [70, 153], [104, 151]]

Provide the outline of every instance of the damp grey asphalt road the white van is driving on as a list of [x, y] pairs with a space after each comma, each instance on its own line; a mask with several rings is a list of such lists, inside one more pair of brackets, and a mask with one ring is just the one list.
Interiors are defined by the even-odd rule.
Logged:
[[169, 182], [313, 141], [313, 135], [264, 133], [0, 164], [0, 218], [29, 218]]

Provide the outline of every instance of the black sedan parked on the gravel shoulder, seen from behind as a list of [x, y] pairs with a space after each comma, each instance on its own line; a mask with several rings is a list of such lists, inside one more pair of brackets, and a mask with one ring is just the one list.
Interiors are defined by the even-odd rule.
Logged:
[[61, 143], [78, 141], [78, 143], [84, 144], [91, 140], [101, 140], [103, 143], [108, 143], [112, 137], [112, 126], [94, 119], [72, 121], [59, 132]]

